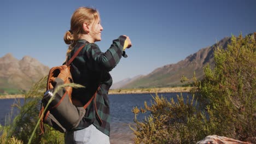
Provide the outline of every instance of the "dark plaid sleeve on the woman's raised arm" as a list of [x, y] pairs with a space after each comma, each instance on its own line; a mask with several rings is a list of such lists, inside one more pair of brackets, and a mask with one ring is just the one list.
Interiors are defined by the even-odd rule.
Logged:
[[122, 55], [125, 55], [123, 51], [125, 39], [126, 37], [121, 35], [118, 39], [113, 40], [113, 44], [104, 53], [96, 44], [90, 44], [88, 57], [93, 63], [90, 69], [111, 71], [119, 63]]

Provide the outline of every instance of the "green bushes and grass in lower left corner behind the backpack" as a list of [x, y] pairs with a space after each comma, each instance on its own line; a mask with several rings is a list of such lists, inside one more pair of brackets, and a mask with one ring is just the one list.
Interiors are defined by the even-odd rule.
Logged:
[[[0, 129], [3, 133], [0, 142], [20, 140], [28, 143], [39, 118], [40, 100], [45, 92], [46, 79], [47, 77], [44, 77], [25, 94], [24, 105], [19, 101], [14, 104], [20, 112], [13, 122], [5, 123], [5, 126]], [[32, 143], [64, 143], [62, 133], [48, 127], [46, 124], [44, 124], [44, 127], [45, 133], [43, 135], [39, 135], [41, 131], [37, 128], [36, 135], [32, 137]]]

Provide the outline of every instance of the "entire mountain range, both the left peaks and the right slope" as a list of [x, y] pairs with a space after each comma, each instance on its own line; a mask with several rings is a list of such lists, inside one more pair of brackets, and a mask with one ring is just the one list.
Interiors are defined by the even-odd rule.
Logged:
[[[181, 76], [191, 78], [195, 72], [197, 79], [203, 76], [203, 67], [206, 64], [214, 67], [214, 49], [226, 49], [231, 38], [223, 38], [218, 43], [200, 49], [175, 64], [164, 65], [156, 68], [148, 75], [138, 75], [113, 83], [111, 89], [124, 88], [150, 88], [150, 87], [176, 87], [182, 86]], [[4, 89], [23, 89], [27, 91], [33, 83], [49, 73], [49, 67], [37, 59], [25, 56], [18, 60], [8, 53], [0, 58], [0, 93]]]

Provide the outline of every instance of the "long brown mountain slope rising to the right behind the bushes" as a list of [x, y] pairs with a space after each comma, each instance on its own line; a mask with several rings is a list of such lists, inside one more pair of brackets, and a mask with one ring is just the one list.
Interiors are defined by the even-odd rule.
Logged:
[[200, 49], [193, 55], [188, 56], [183, 61], [176, 64], [168, 64], [152, 71], [152, 73], [141, 76], [136, 80], [127, 82], [121, 88], [149, 88], [149, 87], [175, 87], [182, 86], [184, 83], [180, 82], [182, 75], [192, 77], [194, 71], [196, 77], [200, 79], [203, 76], [203, 67], [209, 63], [214, 67], [214, 49], [219, 46], [226, 49], [230, 38], [224, 38], [217, 44], [210, 47]]

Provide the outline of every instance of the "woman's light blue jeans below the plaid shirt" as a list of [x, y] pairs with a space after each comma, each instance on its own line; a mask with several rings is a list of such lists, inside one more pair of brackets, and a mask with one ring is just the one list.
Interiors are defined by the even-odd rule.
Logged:
[[88, 128], [67, 131], [65, 144], [109, 144], [109, 136], [98, 130], [93, 124]]

